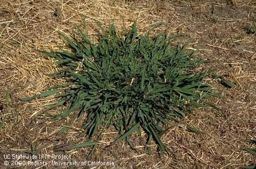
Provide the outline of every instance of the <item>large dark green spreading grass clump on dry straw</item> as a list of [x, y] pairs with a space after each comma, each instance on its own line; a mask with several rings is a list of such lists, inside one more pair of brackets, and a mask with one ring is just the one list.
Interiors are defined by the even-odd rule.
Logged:
[[[107, 146], [125, 139], [134, 149], [129, 136], [134, 132], [140, 135], [144, 130], [147, 145], [153, 140], [161, 153], [171, 153], [161, 140], [170, 120], [179, 121], [188, 108], [209, 105], [204, 100], [218, 96], [205, 82], [210, 71], [198, 68], [205, 61], [196, 59], [196, 51], [188, 52], [186, 46], [172, 46], [171, 37], [166, 34], [149, 36], [161, 24], [138, 35], [135, 22], [130, 31], [120, 36], [114, 24], [108, 31], [98, 24], [103, 35], [97, 44], [77, 27], [72, 39], [62, 34], [71, 52], [62, 48], [57, 52], [44, 52], [47, 57], [55, 58], [60, 67], [51, 76], [65, 80], [65, 84], [22, 100], [55, 95], [58, 102], [46, 105], [45, 110], [68, 106], [54, 119], [65, 118], [73, 112], [77, 118], [72, 125], [86, 117], [82, 128], [87, 132], [88, 142], [60, 150], [93, 146], [91, 157], [103, 131], [114, 126], [120, 137]], [[64, 126], [59, 134], [70, 125]], [[97, 137], [93, 137], [95, 135]], [[96, 139], [91, 141], [92, 138]], [[146, 149], [151, 153], [151, 146]]]

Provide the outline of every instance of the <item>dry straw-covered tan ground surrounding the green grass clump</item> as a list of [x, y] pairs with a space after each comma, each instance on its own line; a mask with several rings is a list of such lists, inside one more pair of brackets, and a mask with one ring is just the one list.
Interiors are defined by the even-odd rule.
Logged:
[[[56, 9], [59, 9], [55, 12]], [[99, 36], [93, 19], [104, 27], [116, 23], [119, 30], [138, 18], [138, 29], [144, 33], [157, 22], [165, 25], [156, 32], [181, 34], [179, 41], [192, 40], [188, 48], [199, 48], [198, 56], [210, 61], [215, 73], [234, 82], [231, 89], [212, 85], [223, 97], [211, 100], [220, 112], [194, 110], [184, 122], [206, 132], [188, 132], [176, 125], [164, 142], [176, 154], [159, 157], [144, 152], [145, 141], [134, 136], [137, 151], [124, 144], [97, 149], [93, 160], [113, 161], [113, 168], [240, 168], [256, 164], [255, 156], [243, 150], [252, 146], [246, 139], [255, 139], [256, 69], [255, 28], [256, 3], [250, 0], [229, 1], [79, 1], [79, 0], [1, 0], [0, 3], [0, 166], [3, 154], [54, 152], [58, 144], [77, 144], [85, 140], [84, 131], [75, 125], [64, 135], [57, 131], [68, 123], [52, 121], [40, 115], [31, 122], [42, 106], [52, 98], [21, 102], [19, 98], [38, 94], [43, 88], [59, 83], [45, 73], [55, 71], [52, 60], [36, 52], [39, 48], [54, 49], [63, 45], [58, 31], [70, 34], [75, 25], [86, 20], [90, 37]], [[154, 32], [154, 33], [156, 33]], [[9, 97], [5, 92], [9, 91]], [[57, 110], [49, 112], [57, 113]], [[102, 143], [110, 142], [117, 133], [105, 132]], [[64, 152], [73, 160], [85, 160], [89, 149]], [[50, 162], [50, 160], [46, 160]], [[23, 168], [23, 167], [22, 167]], [[27, 167], [32, 168], [32, 167]], [[99, 167], [104, 168], [104, 167]], [[111, 167], [106, 167], [111, 168]]]

